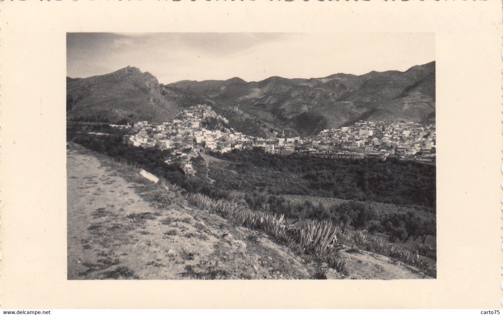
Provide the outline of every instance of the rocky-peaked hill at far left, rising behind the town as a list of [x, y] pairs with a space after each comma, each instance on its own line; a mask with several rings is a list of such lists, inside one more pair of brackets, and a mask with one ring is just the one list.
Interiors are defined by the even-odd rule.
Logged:
[[153, 75], [135, 67], [84, 79], [66, 78], [66, 117], [72, 121], [162, 123], [201, 101], [159, 84]]

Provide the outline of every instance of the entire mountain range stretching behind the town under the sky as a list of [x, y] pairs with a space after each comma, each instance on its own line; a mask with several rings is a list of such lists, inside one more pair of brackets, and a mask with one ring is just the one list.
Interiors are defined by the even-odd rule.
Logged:
[[236, 131], [253, 136], [307, 136], [366, 121], [435, 122], [435, 61], [402, 71], [345, 73], [262, 81], [184, 80], [160, 84], [135, 67], [66, 80], [70, 121], [114, 124], [171, 121], [206, 103]]

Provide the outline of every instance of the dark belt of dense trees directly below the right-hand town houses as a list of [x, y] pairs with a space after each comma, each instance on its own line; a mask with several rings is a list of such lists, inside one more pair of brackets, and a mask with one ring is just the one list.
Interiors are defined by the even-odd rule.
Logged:
[[[253, 186], [263, 170], [276, 172], [275, 177], [291, 180], [290, 187], [302, 186], [298, 194], [331, 196], [341, 199], [378, 201], [403, 205], [436, 205], [436, 167], [415, 161], [387, 158], [325, 159], [303, 154], [282, 156], [268, 154], [260, 148], [232, 150], [217, 158], [244, 163], [240, 176], [249, 182], [241, 189]], [[247, 167], [246, 165], [250, 165]], [[258, 170], [257, 168], [262, 170]], [[280, 171], [282, 174], [278, 174]], [[292, 176], [296, 175], [296, 176]], [[277, 185], [277, 178], [265, 182]], [[259, 185], [256, 185], [259, 186]], [[232, 189], [230, 186], [226, 187]], [[278, 192], [292, 193], [292, 192]]]

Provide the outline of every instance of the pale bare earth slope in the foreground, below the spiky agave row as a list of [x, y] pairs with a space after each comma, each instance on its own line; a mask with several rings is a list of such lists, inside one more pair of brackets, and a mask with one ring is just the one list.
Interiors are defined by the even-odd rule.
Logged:
[[[287, 247], [187, 203], [131, 167], [70, 143], [67, 148], [68, 279], [309, 279]], [[345, 253], [347, 275], [425, 276], [387, 257]], [[427, 277], [427, 276], [426, 276]]]

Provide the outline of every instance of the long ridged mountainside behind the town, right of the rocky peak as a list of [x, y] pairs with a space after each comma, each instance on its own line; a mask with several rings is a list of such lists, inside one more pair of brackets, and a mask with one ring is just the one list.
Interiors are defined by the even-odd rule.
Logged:
[[301, 135], [359, 120], [435, 120], [435, 62], [405, 72], [338, 73], [310, 79], [273, 76], [259, 82], [180, 81], [169, 86], [213, 100], [231, 122], [249, 115], [263, 130], [286, 129]]

